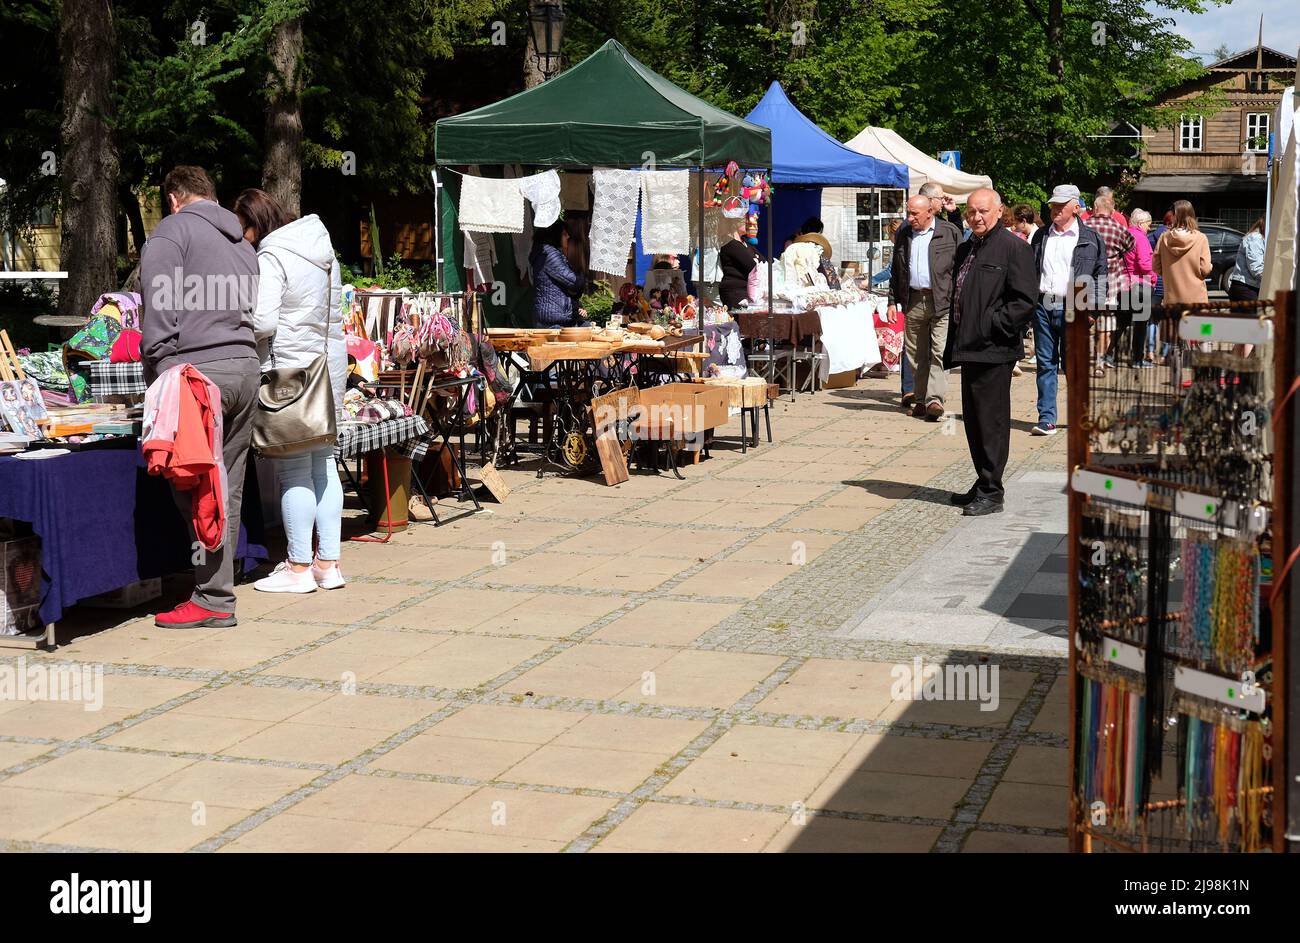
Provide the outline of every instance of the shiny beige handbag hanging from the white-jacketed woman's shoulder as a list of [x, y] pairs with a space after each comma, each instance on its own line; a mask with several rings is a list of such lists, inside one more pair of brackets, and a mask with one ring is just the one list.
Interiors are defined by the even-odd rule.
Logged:
[[[259, 455], [300, 455], [338, 440], [334, 389], [329, 379], [328, 302], [325, 308], [325, 352], [306, 367], [272, 367], [261, 375], [252, 420], [252, 447]], [[270, 358], [274, 363], [274, 346]]]

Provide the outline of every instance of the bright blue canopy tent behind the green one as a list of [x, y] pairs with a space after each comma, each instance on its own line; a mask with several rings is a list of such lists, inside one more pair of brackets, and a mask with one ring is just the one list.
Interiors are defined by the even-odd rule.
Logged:
[[[774, 243], [797, 233], [809, 216], [822, 215], [822, 187], [907, 189], [907, 166], [858, 153], [818, 127], [772, 82], [762, 101], [745, 120], [772, 131], [772, 183], [783, 189], [772, 204]], [[759, 217], [759, 245], [764, 245], [767, 207]]]

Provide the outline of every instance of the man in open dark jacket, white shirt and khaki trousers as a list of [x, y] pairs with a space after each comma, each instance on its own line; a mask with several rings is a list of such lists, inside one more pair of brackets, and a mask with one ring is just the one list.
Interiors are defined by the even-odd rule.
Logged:
[[915, 377], [914, 416], [932, 423], [944, 416], [944, 343], [953, 290], [953, 258], [962, 237], [957, 228], [935, 219], [927, 196], [907, 200], [907, 222], [894, 237], [889, 263], [889, 291], [904, 312], [904, 355]]

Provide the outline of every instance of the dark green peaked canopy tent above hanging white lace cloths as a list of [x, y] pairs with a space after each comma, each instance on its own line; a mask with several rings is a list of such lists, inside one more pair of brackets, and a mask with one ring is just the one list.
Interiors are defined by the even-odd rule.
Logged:
[[[523, 164], [588, 169], [653, 165], [703, 170], [720, 169], [731, 160], [748, 169], [772, 165], [768, 129], [679, 88], [638, 62], [614, 39], [534, 88], [439, 120], [434, 134], [438, 166]], [[454, 193], [459, 191], [459, 181], [439, 181], [437, 172], [434, 177], [441, 193], [438, 255], [445, 256], [442, 282], [455, 291], [462, 287], [456, 260], [463, 241], [456, 226]], [[697, 190], [702, 203], [702, 187]], [[703, 246], [703, 212], [699, 213], [699, 245]], [[498, 246], [504, 250], [503, 242]], [[503, 258], [500, 251], [498, 258]]]

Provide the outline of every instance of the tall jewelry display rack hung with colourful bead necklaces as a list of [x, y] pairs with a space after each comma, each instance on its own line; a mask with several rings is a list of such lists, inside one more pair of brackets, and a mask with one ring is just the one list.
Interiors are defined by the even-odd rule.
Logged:
[[1148, 323], [1067, 317], [1071, 851], [1295, 831], [1295, 303], [1157, 307], [1158, 365]]

